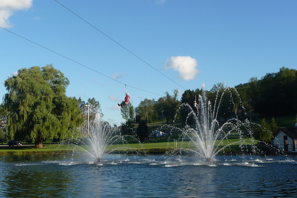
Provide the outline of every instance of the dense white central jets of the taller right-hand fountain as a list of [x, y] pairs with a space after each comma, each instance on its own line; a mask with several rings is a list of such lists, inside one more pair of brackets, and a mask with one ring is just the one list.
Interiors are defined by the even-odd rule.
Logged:
[[[226, 90], [228, 90], [228, 88], [224, 90], [223, 94]], [[194, 117], [195, 119], [195, 128], [186, 127], [186, 130], [183, 132], [183, 134], [195, 144], [197, 149], [194, 150], [194, 152], [203, 157], [206, 161], [211, 161], [211, 159], [224, 148], [238, 143], [238, 141], [233, 142], [219, 148], [223, 140], [227, 139], [231, 130], [239, 132], [240, 128], [244, 125], [244, 123], [237, 118], [229, 119], [222, 126], [219, 125], [218, 111], [222, 96], [218, 97], [217, 92], [212, 108], [210, 101], [207, 100], [203, 84], [202, 94], [199, 95], [198, 99], [199, 114], [197, 115], [193, 111], [189, 114], [190, 117]], [[216, 144], [217, 141], [220, 142]], [[242, 139], [239, 139], [239, 141], [242, 141]]]

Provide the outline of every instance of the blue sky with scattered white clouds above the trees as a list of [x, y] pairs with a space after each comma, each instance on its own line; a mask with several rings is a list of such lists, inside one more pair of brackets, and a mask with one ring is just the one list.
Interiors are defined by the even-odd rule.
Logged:
[[296, 10], [296, 0], [0, 0], [0, 96], [19, 69], [52, 64], [68, 97], [95, 98], [120, 125], [125, 90], [137, 107], [297, 69]]

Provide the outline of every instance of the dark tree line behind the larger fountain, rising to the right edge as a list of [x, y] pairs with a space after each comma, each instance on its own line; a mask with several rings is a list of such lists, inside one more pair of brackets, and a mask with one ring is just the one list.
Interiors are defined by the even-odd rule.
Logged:
[[[222, 85], [223, 83], [217, 83], [210, 91], [205, 91], [212, 104], [217, 93], [219, 92], [220, 97], [226, 89], [226, 86]], [[219, 115], [223, 119], [232, 117], [235, 111], [242, 117], [247, 117], [249, 107], [254, 114], [261, 117], [293, 115], [297, 113], [297, 70], [282, 67], [276, 73], [267, 73], [260, 80], [252, 77], [246, 84], [228, 87], [227, 93], [220, 105]], [[172, 122], [173, 118], [184, 120], [188, 111], [184, 109], [176, 117], [177, 110], [182, 103], [193, 107], [201, 90], [186, 90], [180, 100], [177, 99], [177, 94], [177, 90], [174, 90], [173, 96], [166, 92], [166, 96], [158, 100], [141, 101], [135, 108], [136, 120], [143, 119], [148, 123], [161, 121], [162, 115], [167, 124]]]

